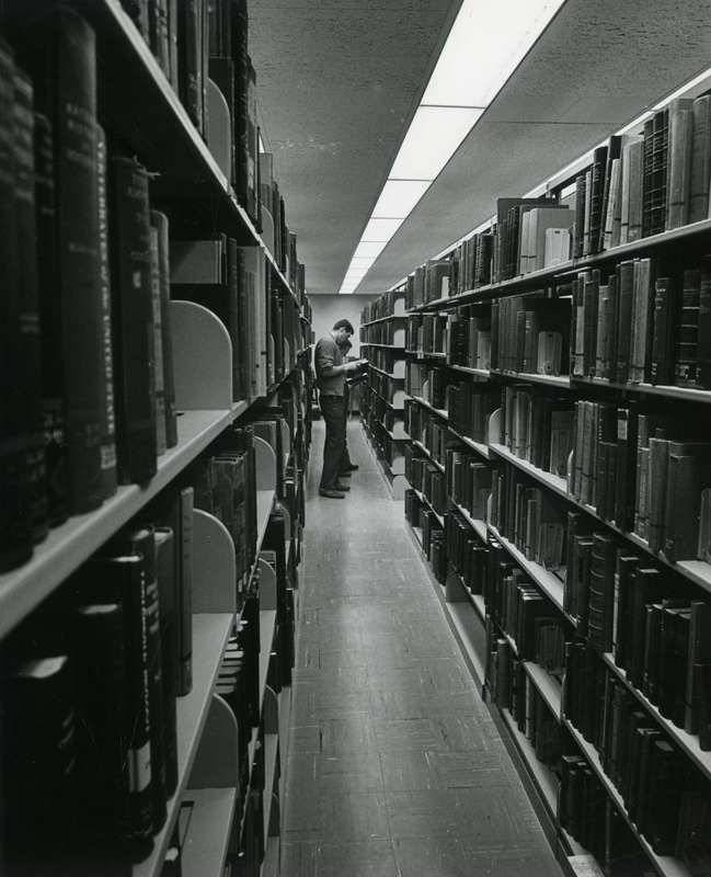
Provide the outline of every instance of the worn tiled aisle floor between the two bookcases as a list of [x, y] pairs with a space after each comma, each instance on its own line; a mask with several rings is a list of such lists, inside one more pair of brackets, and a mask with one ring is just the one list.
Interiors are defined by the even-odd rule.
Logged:
[[284, 877], [561, 874], [357, 420], [345, 500], [313, 423]]

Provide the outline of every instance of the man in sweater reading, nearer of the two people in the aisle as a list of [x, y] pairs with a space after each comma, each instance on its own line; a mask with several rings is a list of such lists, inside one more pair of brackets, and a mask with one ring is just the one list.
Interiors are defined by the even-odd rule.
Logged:
[[365, 360], [344, 363], [340, 348], [354, 331], [348, 320], [339, 320], [329, 334], [319, 340], [313, 357], [319, 405], [325, 421], [323, 470], [319, 494], [333, 500], [344, 499], [345, 492], [351, 489], [339, 481], [345, 447], [345, 376], [348, 372], [355, 372]]

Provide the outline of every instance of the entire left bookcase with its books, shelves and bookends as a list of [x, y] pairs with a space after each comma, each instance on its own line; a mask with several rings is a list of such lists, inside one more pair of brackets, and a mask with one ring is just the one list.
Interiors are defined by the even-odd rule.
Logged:
[[[153, 14], [159, 7], [160, 14]], [[273, 173], [266, 173], [271, 157], [259, 152], [245, 8], [231, 2], [184, 7], [171, 4], [171, 18], [161, 4], [151, 4], [149, 15], [148, 4], [68, 0], [49, 11], [14, 4], [3, 20], [0, 76], [9, 112], [3, 118], [16, 118], [14, 126], [3, 125], [10, 132], [3, 157], [14, 150], [13, 168], [21, 171], [21, 182], [10, 181], [18, 186], [10, 202], [16, 196], [18, 204], [34, 208], [36, 198], [37, 217], [51, 207], [57, 228], [70, 227], [69, 237], [74, 236], [55, 240], [37, 218], [37, 250], [27, 242], [32, 236], [23, 240], [38, 263], [50, 266], [33, 275], [36, 286], [27, 282], [22, 289], [23, 320], [32, 318], [42, 327], [42, 343], [25, 339], [24, 323], [12, 316], [19, 305], [11, 298], [20, 295], [20, 286], [11, 270], [19, 271], [22, 261], [15, 254], [10, 269], [4, 263], [9, 294], [3, 294], [3, 320], [9, 319], [3, 338], [15, 330], [16, 339], [4, 345], [10, 351], [5, 356], [15, 358], [3, 358], [3, 381], [5, 366], [18, 373], [26, 365], [27, 376], [20, 375], [11, 389], [24, 394], [28, 413], [23, 419], [3, 395], [3, 447], [8, 438], [15, 447], [31, 447], [43, 465], [55, 467], [51, 477], [57, 476], [59, 467], [45, 458], [44, 441], [27, 437], [31, 426], [36, 430], [46, 417], [51, 390], [60, 397], [68, 423], [85, 417], [89, 429], [101, 432], [104, 449], [92, 457], [87, 443], [78, 459], [89, 469], [92, 460], [101, 460], [101, 478], [107, 477], [101, 496], [91, 501], [82, 493], [91, 479], [78, 477], [70, 485], [69, 508], [61, 491], [45, 496], [49, 488], [44, 475], [39, 486], [31, 479], [3, 480], [3, 503], [12, 500], [21, 508], [32, 497], [33, 508], [45, 514], [43, 520], [34, 513], [36, 535], [25, 533], [19, 546], [14, 535], [7, 535], [3, 519], [0, 867], [8, 874], [217, 877], [227, 866], [254, 877], [280, 873], [279, 807], [310, 444], [311, 310], [296, 236], [286, 226]], [[234, 15], [234, 43], [216, 49], [218, 14]], [[225, 54], [208, 57], [208, 45]], [[42, 48], [35, 50], [37, 46]], [[213, 81], [220, 76], [229, 100]], [[199, 87], [190, 93], [193, 81]], [[74, 111], [77, 118], [67, 124], [67, 114]], [[71, 129], [79, 132], [77, 141], [66, 139]], [[239, 136], [245, 132], [250, 137]], [[54, 146], [42, 141], [41, 133], [54, 136]], [[80, 152], [89, 157], [76, 162], [85, 174], [87, 198], [64, 194], [68, 181], [78, 179], [71, 174], [79, 172], [72, 161]], [[49, 175], [43, 175], [49, 167], [43, 161], [50, 163]], [[117, 185], [119, 164], [134, 174], [135, 189]], [[264, 170], [261, 186], [259, 164]], [[131, 204], [142, 198], [136, 215], [145, 226], [138, 228], [137, 220], [131, 228], [121, 219], [129, 213], [128, 198], [136, 198]], [[16, 214], [5, 212], [4, 220], [19, 232], [35, 227], [22, 206]], [[148, 237], [140, 238], [149, 230], [150, 247]], [[140, 253], [149, 250], [150, 262], [141, 262]], [[93, 283], [85, 284], [81, 300], [67, 303], [65, 287], [71, 292], [71, 283], [66, 275], [77, 252], [88, 260], [83, 270], [94, 272]], [[136, 261], [126, 253], [138, 253]], [[135, 278], [135, 287], [125, 285], [124, 275]], [[119, 331], [129, 293], [150, 306], [144, 310], [145, 322]], [[76, 315], [73, 306], [80, 308]], [[60, 316], [53, 320], [53, 311]], [[141, 351], [149, 352], [149, 361], [141, 363], [140, 374], [131, 373], [126, 362], [140, 358]], [[77, 364], [73, 374], [87, 375], [87, 398], [95, 396], [95, 410], [88, 414], [70, 409], [76, 399], [61, 383], [68, 356]], [[129, 436], [139, 429], [139, 418], [127, 401], [139, 398], [131, 396], [136, 392], [150, 402], [153, 437], [146, 468], [127, 477], [126, 471], [135, 471], [128, 464], [139, 454]], [[162, 432], [168, 437], [161, 445]], [[57, 444], [72, 446], [74, 441], [67, 426]], [[3, 458], [3, 477], [19, 462], [23, 477], [25, 468], [36, 465], [26, 453]], [[211, 480], [218, 468], [221, 478], [229, 471], [227, 492], [219, 492]], [[50, 525], [47, 508], [54, 514]], [[168, 566], [159, 565], [159, 532], [161, 544], [171, 546]], [[139, 543], [131, 542], [139, 536], [145, 539], [142, 554], [135, 547]], [[135, 561], [140, 567], [138, 607], [130, 605], [127, 591], [112, 590], [110, 597], [104, 591], [102, 576], [108, 579], [112, 562], [127, 558], [128, 566]], [[156, 593], [151, 603], [149, 594]], [[142, 626], [135, 638], [112, 640], [111, 673], [101, 665], [95, 691], [84, 693], [80, 704], [72, 675], [81, 662], [79, 643], [64, 631], [66, 618], [85, 606], [119, 617], [116, 630], [136, 625], [136, 618]], [[169, 625], [185, 651], [179, 652], [176, 645], [173, 653], [165, 645]], [[53, 627], [62, 630], [60, 639], [45, 637]], [[180, 680], [179, 659], [186, 661]], [[108, 715], [133, 720], [134, 701], [126, 692], [136, 683], [129, 660], [150, 681], [148, 695], [142, 690], [138, 694], [141, 709], [151, 721], [158, 717], [138, 755], [124, 752], [128, 744], [122, 729], [104, 727]], [[68, 675], [62, 668], [71, 668]], [[46, 683], [46, 688], [33, 693], [33, 682], [39, 687]], [[53, 690], [55, 684], [64, 687]], [[53, 706], [58, 692], [60, 707]], [[114, 695], [119, 706], [112, 713], [106, 701]], [[163, 711], [156, 706], [159, 702]], [[102, 740], [122, 748], [126, 763], [135, 759], [135, 772], [126, 767], [124, 775], [122, 767], [112, 775], [123, 789], [114, 789], [113, 797], [106, 793], [89, 804], [82, 799], [78, 777], [88, 768], [77, 765], [89, 761], [74, 714], [78, 724], [81, 719], [93, 731], [101, 729]], [[171, 725], [169, 755], [162, 734]], [[64, 736], [53, 738], [60, 729]], [[106, 767], [108, 762], [101, 752], [99, 763]], [[38, 765], [32, 777], [27, 764]], [[164, 776], [170, 772], [172, 781]], [[146, 789], [151, 789], [147, 809], [145, 795], [138, 804]], [[111, 807], [104, 802], [110, 797]], [[127, 797], [129, 809], [144, 807], [140, 825], [133, 809], [128, 816], [123, 810], [116, 815], [123, 806], [116, 801]], [[43, 800], [62, 811], [51, 819], [57, 831], [45, 822]], [[130, 840], [118, 842], [119, 836]]]

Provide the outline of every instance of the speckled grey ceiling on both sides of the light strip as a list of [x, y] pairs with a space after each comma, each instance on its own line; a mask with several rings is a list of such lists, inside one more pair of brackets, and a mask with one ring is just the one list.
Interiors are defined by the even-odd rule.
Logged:
[[[337, 293], [460, 2], [250, 0], [310, 295]], [[380, 295], [710, 64], [708, 0], [567, 0], [356, 292]]]

